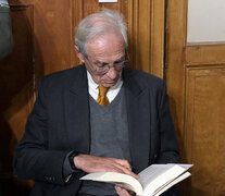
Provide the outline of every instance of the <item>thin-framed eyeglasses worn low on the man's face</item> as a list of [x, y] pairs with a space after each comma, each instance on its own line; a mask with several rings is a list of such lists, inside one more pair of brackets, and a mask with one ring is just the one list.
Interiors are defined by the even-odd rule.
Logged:
[[[128, 57], [128, 54], [127, 54], [127, 57]], [[125, 68], [125, 66], [128, 64], [128, 62], [129, 62], [129, 60], [124, 60], [124, 61], [118, 60], [117, 62], [115, 61], [112, 65], [110, 65], [110, 63], [104, 63], [104, 62], [98, 62], [98, 61], [97, 61], [97, 62], [90, 62], [89, 59], [88, 59], [88, 57], [85, 57], [85, 59], [86, 59], [89, 63], [96, 65], [96, 66], [95, 66], [95, 72], [96, 72], [97, 74], [100, 74], [100, 75], [103, 75], [103, 74], [108, 73], [109, 70], [110, 70], [111, 68], [114, 68], [115, 71], [120, 72], [120, 71], [122, 71], [123, 68]], [[128, 59], [129, 59], [129, 58], [128, 58]]]

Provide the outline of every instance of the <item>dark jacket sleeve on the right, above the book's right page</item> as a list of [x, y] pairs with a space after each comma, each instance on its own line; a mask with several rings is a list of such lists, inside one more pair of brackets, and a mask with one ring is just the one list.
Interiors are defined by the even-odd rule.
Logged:
[[168, 108], [166, 95], [166, 85], [163, 82], [160, 91], [159, 110], [159, 130], [160, 130], [160, 148], [157, 163], [177, 163], [179, 162], [178, 144]]

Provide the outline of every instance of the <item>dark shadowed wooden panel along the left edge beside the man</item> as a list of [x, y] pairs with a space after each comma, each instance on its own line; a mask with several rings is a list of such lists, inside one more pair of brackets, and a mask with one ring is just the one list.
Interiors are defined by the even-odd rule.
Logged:
[[[28, 187], [14, 179], [12, 160], [34, 102], [34, 5], [12, 4], [11, 10], [14, 49], [0, 64], [0, 180], [3, 195], [23, 195]], [[20, 188], [11, 187], [18, 183]]]

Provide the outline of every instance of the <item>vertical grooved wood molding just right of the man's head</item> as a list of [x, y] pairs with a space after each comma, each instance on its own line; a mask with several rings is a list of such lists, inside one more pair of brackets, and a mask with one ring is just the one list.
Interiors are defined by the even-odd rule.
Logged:
[[128, 32], [133, 68], [163, 77], [165, 2], [130, 0]]

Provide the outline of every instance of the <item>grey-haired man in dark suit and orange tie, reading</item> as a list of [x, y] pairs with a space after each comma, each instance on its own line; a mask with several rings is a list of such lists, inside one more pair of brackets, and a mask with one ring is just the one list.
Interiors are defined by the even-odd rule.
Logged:
[[103, 171], [137, 177], [152, 163], [178, 162], [165, 84], [127, 68], [126, 47], [123, 15], [91, 14], [76, 29], [83, 64], [40, 81], [14, 161], [20, 177], [35, 180], [33, 196], [125, 196], [120, 186], [79, 177]]

